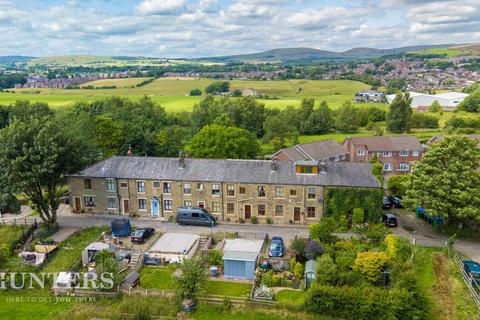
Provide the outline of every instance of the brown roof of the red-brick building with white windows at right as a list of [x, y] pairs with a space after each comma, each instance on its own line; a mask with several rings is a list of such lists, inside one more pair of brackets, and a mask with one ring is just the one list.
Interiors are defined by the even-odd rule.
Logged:
[[422, 144], [415, 136], [372, 136], [352, 137], [354, 145], [367, 146], [369, 151], [423, 150]]

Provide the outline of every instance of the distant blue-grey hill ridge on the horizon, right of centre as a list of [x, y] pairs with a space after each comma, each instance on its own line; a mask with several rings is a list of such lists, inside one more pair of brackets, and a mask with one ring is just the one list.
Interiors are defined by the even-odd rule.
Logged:
[[343, 52], [312, 48], [282, 48], [251, 54], [207, 57], [199, 60], [214, 62], [311, 62], [321, 60], [358, 60], [451, 46], [452, 44], [408, 46], [393, 49], [353, 48]]

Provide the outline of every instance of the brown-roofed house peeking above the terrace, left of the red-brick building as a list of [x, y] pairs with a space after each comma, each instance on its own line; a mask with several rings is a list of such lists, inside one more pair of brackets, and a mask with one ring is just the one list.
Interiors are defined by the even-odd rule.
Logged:
[[335, 139], [320, 140], [297, 144], [291, 148], [280, 149], [270, 159], [278, 161], [348, 161], [348, 150]]

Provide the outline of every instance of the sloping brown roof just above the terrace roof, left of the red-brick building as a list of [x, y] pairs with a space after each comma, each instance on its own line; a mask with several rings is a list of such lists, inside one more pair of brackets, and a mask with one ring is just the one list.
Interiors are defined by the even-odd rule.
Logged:
[[324, 160], [348, 153], [347, 148], [339, 144], [335, 139], [297, 144], [294, 147], [281, 149], [280, 151], [285, 152], [293, 161]]

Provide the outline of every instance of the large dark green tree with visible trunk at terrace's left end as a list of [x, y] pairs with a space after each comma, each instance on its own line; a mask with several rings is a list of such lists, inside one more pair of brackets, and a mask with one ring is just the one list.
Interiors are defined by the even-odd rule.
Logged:
[[81, 142], [50, 117], [32, 114], [0, 131], [1, 176], [26, 195], [48, 226], [57, 221], [65, 175], [86, 162]]

